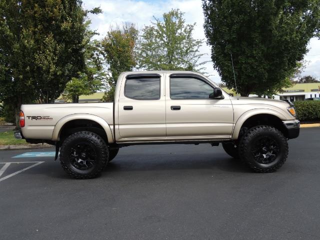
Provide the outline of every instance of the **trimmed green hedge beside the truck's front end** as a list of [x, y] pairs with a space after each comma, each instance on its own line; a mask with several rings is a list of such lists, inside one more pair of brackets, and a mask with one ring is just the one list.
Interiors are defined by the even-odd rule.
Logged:
[[294, 108], [300, 121], [320, 120], [320, 101], [295, 101]]

